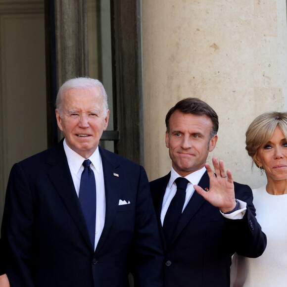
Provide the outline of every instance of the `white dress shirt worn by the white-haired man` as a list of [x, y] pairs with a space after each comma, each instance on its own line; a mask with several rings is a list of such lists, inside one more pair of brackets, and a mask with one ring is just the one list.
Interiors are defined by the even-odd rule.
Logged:
[[[86, 158], [72, 150], [64, 140], [64, 150], [67, 156], [68, 165], [72, 175], [75, 190], [79, 197], [81, 175], [84, 170], [83, 162]], [[105, 219], [105, 190], [101, 157], [98, 151], [98, 147], [95, 152], [89, 157], [91, 160], [91, 168], [95, 174], [96, 180], [96, 234], [95, 234], [95, 250], [98, 240], [101, 236], [104, 219]]]

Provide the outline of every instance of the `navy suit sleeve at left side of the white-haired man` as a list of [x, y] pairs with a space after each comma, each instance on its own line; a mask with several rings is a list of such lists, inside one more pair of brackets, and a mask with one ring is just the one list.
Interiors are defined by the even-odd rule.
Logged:
[[10, 172], [1, 235], [6, 273], [13, 287], [34, 287], [31, 274], [34, 205], [31, 190], [20, 164]]

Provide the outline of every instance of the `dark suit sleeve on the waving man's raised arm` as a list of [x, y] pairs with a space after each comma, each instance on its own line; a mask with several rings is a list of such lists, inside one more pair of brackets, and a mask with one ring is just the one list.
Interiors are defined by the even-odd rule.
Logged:
[[228, 242], [234, 252], [245, 257], [256, 258], [266, 248], [266, 235], [256, 220], [255, 207], [251, 189], [246, 185], [235, 183], [235, 196], [247, 203], [246, 212], [242, 219], [226, 219]]

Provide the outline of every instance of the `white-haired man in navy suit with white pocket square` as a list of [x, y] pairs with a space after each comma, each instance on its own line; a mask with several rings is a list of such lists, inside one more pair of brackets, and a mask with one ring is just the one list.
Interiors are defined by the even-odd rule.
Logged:
[[107, 96], [90, 78], [56, 101], [65, 139], [16, 163], [2, 238], [13, 287], [162, 286], [162, 246], [144, 168], [98, 146]]

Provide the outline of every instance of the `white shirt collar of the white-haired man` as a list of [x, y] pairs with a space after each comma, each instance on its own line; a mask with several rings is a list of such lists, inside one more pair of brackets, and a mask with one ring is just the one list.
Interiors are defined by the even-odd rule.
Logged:
[[[86, 159], [83, 156], [81, 156], [79, 153], [77, 153], [76, 151], [74, 151], [73, 149], [71, 149], [67, 143], [66, 140], [64, 139], [64, 150], [66, 153], [66, 157], [68, 160], [68, 164], [70, 169], [73, 170], [73, 172], [75, 174], [77, 174], [79, 172], [79, 170], [82, 168], [83, 165], [83, 161]], [[100, 170], [100, 154], [99, 154], [99, 150], [98, 150], [98, 146], [96, 147], [96, 150], [94, 151], [94, 153], [89, 157], [89, 159], [91, 160], [92, 164], [94, 165], [96, 172], [99, 173]]]

